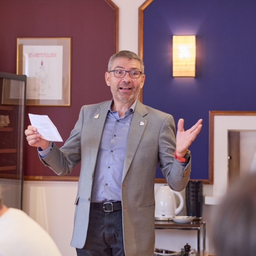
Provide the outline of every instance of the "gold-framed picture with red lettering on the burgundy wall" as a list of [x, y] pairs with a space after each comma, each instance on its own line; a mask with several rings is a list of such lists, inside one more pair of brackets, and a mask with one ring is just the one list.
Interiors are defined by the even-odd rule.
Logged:
[[70, 106], [71, 37], [17, 38], [17, 74], [27, 76], [27, 105]]

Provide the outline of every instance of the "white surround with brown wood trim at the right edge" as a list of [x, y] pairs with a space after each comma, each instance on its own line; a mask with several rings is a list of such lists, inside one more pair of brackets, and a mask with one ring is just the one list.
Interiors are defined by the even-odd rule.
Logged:
[[256, 111], [209, 111], [209, 184], [224, 195], [228, 186], [228, 132], [255, 131]]

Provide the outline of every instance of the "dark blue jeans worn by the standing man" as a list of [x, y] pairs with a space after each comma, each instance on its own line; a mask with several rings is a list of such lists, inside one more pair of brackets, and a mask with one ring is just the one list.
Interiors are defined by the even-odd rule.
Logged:
[[122, 210], [104, 212], [91, 204], [86, 244], [77, 256], [125, 256]]

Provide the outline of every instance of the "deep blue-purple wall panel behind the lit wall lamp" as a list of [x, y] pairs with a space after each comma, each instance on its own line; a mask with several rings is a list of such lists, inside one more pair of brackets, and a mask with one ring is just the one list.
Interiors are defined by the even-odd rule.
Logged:
[[[256, 2], [240, 0], [154, 0], [144, 11], [143, 103], [185, 129], [203, 118], [191, 179], [208, 179], [208, 112], [256, 110], [255, 13]], [[196, 35], [196, 78], [172, 76], [173, 35]]]

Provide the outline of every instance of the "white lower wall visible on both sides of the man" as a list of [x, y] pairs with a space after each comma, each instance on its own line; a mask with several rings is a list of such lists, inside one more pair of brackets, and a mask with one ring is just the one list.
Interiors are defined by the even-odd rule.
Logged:
[[[155, 190], [163, 184], [156, 184]], [[208, 185], [204, 185], [209, 194]], [[24, 211], [39, 223], [56, 242], [63, 256], [76, 256], [70, 246], [73, 233], [74, 201], [77, 182], [71, 181], [25, 181]], [[184, 190], [182, 191], [184, 197]], [[212, 252], [208, 234], [209, 221], [215, 206], [204, 205], [203, 220], [206, 221], [206, 251]], [[186, 215], [185, 208], [180, 215]], [[180, 250], [186, 243], [197, 248], [197, 232], [191, 230], [156, 230], [156, 247]]]

